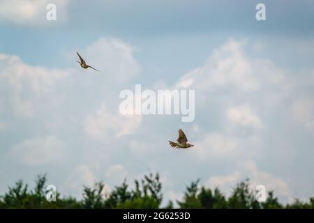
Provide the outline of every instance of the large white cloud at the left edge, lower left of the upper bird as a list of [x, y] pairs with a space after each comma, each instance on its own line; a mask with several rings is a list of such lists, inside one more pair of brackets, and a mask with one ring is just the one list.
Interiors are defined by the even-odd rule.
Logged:
[[66, 77], [66, 70], [29, 66], [17, 56], [0, 54], [0, 86], [6, 90], [0, 98], [16, 116], [34, 116], [34, 107], [43, 102], [40, 99], [53, 93], [55, 83]]

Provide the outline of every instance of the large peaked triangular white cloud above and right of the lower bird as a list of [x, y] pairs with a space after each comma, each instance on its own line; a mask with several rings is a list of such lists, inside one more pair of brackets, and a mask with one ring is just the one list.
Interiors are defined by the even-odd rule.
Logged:
[[253, 66], [241, 52], [243, 43], [230, 40], [216, 49], [201, 68], [181, 77], [177, 88], [212, 90], [229, 86], [240, 90], [257, 89], [260, 82], [253, 74]]

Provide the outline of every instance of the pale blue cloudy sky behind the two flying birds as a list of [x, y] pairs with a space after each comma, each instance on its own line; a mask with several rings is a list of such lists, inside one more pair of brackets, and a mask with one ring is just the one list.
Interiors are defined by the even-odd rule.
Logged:
[[[48, 3], [57, 20], [46, 19]], [[257, 3], [266, 20], [257, 21]], [[158, 172], [314, 196], [313, 1], [0, 0], [0, 194], [37, 174], [62, 194]], [[95, 70], [80, 68], [80, 52]], [[124, 89], [195, 90], [195, 120], [119, 112]], [[168, 140], [182, 128], [193, 149]]]

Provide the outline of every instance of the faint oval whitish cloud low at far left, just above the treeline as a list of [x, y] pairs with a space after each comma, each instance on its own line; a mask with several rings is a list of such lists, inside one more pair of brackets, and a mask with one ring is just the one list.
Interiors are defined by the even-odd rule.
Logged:
[[64, 155], [65, 146], [55, 136], [27, 139], [13, 146], [10, 157], [16, 157], [29, 166], [54, 164], [60, 162]]

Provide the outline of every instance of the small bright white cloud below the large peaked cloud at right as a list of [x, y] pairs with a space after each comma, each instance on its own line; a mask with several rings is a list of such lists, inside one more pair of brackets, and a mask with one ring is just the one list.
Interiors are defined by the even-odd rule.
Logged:
[[249, 105], [230, 107], [226, 112], [227, 119], [237, 125], [251, 125], [254, 128], [262, 128], [262, 121], [253, 113]]

